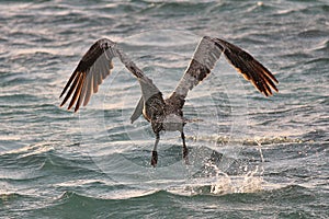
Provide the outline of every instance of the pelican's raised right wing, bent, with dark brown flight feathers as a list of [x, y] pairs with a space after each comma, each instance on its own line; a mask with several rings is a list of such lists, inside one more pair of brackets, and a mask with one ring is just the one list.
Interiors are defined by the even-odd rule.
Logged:
[[211, 73], [222, 53], [261, 93], [268, 96], [272, 95], [271, 89], [277, 92], [274, 82], [279, 82], [275, 77], [250, 54], [226, 41], [204, 36], [168, 101], [182, 108], [188, 92]]

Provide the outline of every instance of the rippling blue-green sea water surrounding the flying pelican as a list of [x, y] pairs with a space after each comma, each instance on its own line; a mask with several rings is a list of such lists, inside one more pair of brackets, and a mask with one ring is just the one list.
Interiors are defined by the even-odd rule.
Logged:
[[[1, 218], [328, 218], [329, 2], [1, 1]], [[89, 46], [117, 42], [168, 95], [203, 35], [250, 51], [280, 81], [264, 97], [223, 57], [179, 132], [129, 116], [136, 80], [114, 70], [79, 113], [61, 89]]]

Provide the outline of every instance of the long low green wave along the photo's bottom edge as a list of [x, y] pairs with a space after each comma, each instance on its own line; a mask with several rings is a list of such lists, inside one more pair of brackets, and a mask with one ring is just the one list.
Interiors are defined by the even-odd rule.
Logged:
[[[8, 197], [9, 199], [4, 199], [2, 203], [4, 204], [4, 210], [7, 210], [7, 206], [12, 206], [10, 205], [11, 201], [25, 201], [25, 205], [11, 208], [10, 211], [11, 215], [16, 217], [30, 216], [29, 218], [72, 218], [77, 216], [88, 218], [122, 218], [124, 216], [141, 218], [155, 215], [167, 215], [168, 218], [175, 218], [182, 215], [186, 217], [198, 215], [202, 217], [204, 214], [209, 214], [208, 216], [213, 218], [224, 212], [232, 214], [246, 209], [248, 211], [263, 210], [264, 206], [274, 207], [275, 210], [279, 209], [282, 212], [287, 212], [286, 208], [291, 209], [292, 204], [300, 206], [299, 208], [303, 209], [304, 207], [311, 207], [313, 212], [322, 212], [324, 210], [321, 211], [320, 208], [326, 208], [325, 205], [315, 201], [316, 195], [325, 201], [325, 195], [314, 194], [314, 189], [295, 184], [254, 193], [212, 194], [208, 193], [209, 188], [209, 186], [198, 187], [198, 191], [204, 192], [192, 195], [178, 194], [169, 189], [117, 191], [116, 195], [107, 192], [103, 196], [64, 191], [55, 198], [34, 203], [31, 203], [29, 197], [26, 199], [24, 195], [12, 194], [12, 197]], [[290, 204], [285, 205], [287, 201]], [[303, 212], [305, 214], [305, 211]]]

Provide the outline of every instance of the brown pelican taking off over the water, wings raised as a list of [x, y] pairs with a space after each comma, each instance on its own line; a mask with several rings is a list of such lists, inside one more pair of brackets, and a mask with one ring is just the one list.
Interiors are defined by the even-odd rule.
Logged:
[[157, 147], [160, 140], [160, 131], [180, 131], [183, 141], [182, 157], [188, 163], [188, 148], [183, 127], [188, 119], [183, 117], [183, 106], [188, 92], [204, 80], [214, 68], [220, 54], [249, 80], [264, 95], [272, 95], [271, 89], [277, 92], [274, 84], [279, 83], [275, 77], [258, 60], [243, 49], [220, 38], [204, 36], [182, 79], [168, 99], [147, 76], [126, 56], [118, 45], [107, 38], [97, 41], [84, 54], [78, 67], [65, 85], [61, 97], [66, 96], [60, 104], [63, 106], [70, 97], [68, 110], [73, 105], [77, 112], [82, 104], [86, 106], [92, 93], [98, 92], [99, 85], [113, 69], [112, 59], [120, 58], [124, 66], [137, 78], [141, 97], [131, 117], [134, 123], [141, 114], [151, 124], [156, 135], [156, 142], [151, 152], [151, 165], [158, 162]]

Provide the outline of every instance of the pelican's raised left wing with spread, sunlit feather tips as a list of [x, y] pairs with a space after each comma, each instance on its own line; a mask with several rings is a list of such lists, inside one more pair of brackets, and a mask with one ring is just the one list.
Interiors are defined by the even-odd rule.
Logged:
[[114, 57], [121, 59], [125, 67], [138, 79], [140, 84], [143, 82], [143, 84], [146, 83], [148, 87], [157, 90], [151, 80], [127, 58], [114, 42], [102, 38], [90, 47], [71, 74], [59, 96], [61, 97], [66, 93], [60, 106], [70, 97], [68, 110], [75, 104], [75, 112], [79, 110], [81, 104], [86, 106], [90, 96], [98, 92], [99, 85], [111, 73], [111, 69], [113, 69], [112, 59]]

